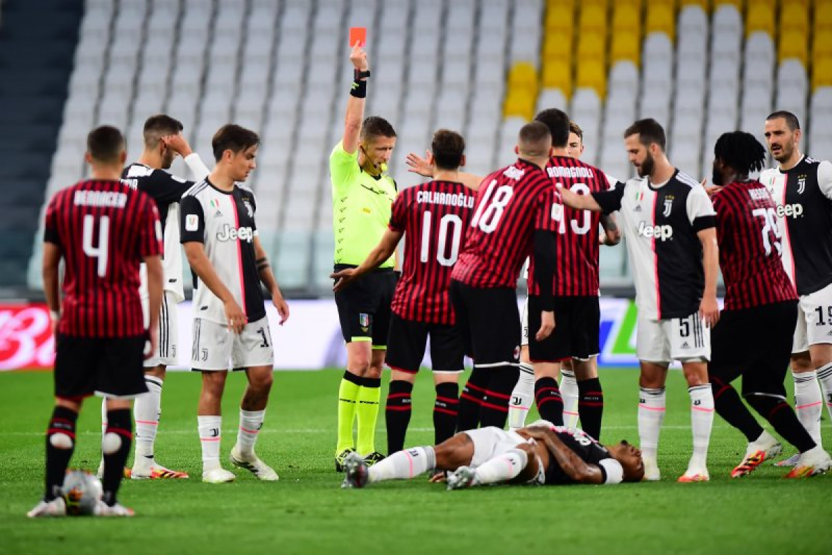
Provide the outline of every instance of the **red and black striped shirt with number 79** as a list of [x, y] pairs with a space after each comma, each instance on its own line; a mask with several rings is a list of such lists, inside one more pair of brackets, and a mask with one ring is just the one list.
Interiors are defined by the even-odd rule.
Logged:
[[760, 181], [726, 185], [713, 197], [725, 310], [797, 299], [780, 261], [777, 209]]

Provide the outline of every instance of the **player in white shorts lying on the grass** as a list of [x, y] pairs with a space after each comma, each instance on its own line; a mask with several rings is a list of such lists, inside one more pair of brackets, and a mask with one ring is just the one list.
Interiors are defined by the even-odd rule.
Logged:
[[369, 468], [359, 456], [348, 457], [342, 487], [414, 478], [434, 468], [453, 471], [448, 489], [489, 483], [639, 482], [644, 476], [641, 451], [626, 441], [604, 446], [581, 430], [538, 420], [515, 432], [493, 426], [460, 432], [436, 447], [405, 449]]

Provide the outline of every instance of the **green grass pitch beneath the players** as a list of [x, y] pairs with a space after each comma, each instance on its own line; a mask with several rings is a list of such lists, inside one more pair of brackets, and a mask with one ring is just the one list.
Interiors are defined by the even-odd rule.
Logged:
[[[718, 417], [711, 482], [675, 483], [691, 450], [689, 401], [678, 371], [668, 379], [660, 483], [461, 492], [426, 478], [339, 488], [332, 462], [339, 379], [334, 370], [276, 373], [257, 451], [280, 482], [260, 483], [235, 469], [235, 483], [214, 485], [199, 479], [199, 376], [171, 373], [156, 454], [191, 479], [126, 480], [121, 502], [136, 509], [136, 518], [33, 520], [25, 513], [42, 493], [52, 374], [0, 373], [0, 553], [832, 553], [832, 476], [784, 480], [784, 470], [766, 464], [731, 480], [745, 439]], [[602, 441], [637, 442], [636, 379], [633, 369], [602, 371]], [[235, 441], [244, 384], [243, 375], [229, 377], [223, 457]], [[433, 442], [432, 404], [432, 381], [423, 372], [408, 444]], [[832, 446], [827, 419], [823, 425]], [[97, 468], [98, 399], [87, 401], [78, 431], [72, 466]], [[383, 410], [377, 447], [384, 451]]]

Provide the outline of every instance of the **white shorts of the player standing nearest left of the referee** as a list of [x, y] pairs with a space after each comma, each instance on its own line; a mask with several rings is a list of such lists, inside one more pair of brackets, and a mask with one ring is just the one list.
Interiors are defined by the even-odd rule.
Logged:
[[194, 319], [192, 369], [221, 371], [274, 365], [275, 349], [267, 317], [249, 322], [239, 334], [227, 325]]

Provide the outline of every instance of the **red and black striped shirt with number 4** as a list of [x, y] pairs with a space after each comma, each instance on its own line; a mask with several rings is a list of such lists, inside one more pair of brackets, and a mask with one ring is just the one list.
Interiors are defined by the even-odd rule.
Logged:
[[43, 238], [60, 248], [65, 263], [58, 332], [144, 333], [139, 263], [162, 251], [159, 212], [150, 196], [119, 181], [81, 181], [52, 197]]

